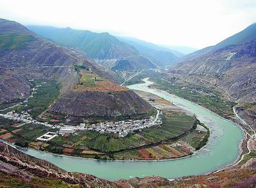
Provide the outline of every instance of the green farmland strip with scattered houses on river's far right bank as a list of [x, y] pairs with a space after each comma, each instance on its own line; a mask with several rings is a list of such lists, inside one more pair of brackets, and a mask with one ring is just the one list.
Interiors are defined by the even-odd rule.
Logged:
[[[143, 71], [140, 75], [134, 76], [127, 85], [143, 82], [141, 79], [150, 78], [154, 87], [160, 90], [165, 90], [170, 94], [179, 96], [180, 98], [188, 99], [198, 105], [208, 108], [212, 112], [222, 116], [232, 116], [232, 107], [236, 103], [223, 99], [223, 96], [217, 90], [202, 85], [189, 83], [181, 78], [170, 76], [167, 73], [156, 73], [155, 71]], [[252, 106], [252, 105], [249, 105]]]

